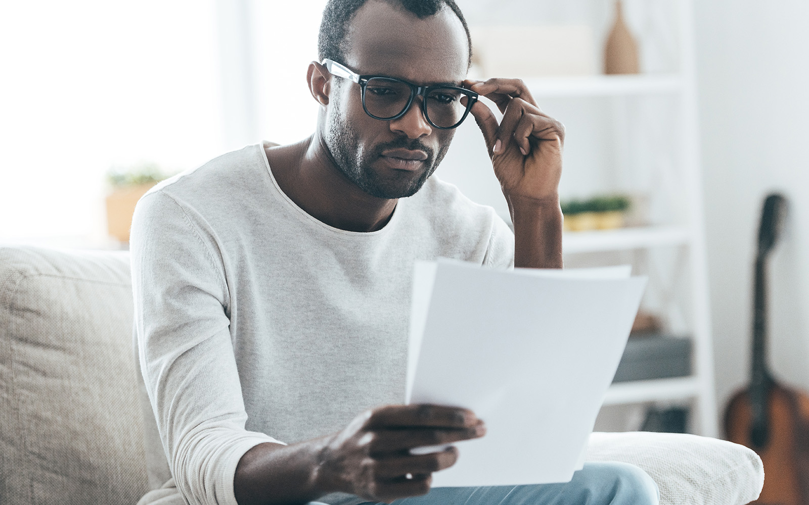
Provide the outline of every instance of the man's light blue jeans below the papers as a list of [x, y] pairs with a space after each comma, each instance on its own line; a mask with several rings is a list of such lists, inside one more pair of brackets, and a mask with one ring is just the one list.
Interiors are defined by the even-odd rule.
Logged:
[[393, 505], [658, 505], [658, 502], [658, 487], [642, 469], [628, 463], [604, 462], [586, 463], [574, 473], [573, 480], [561, 484], [437, 487], [424, 496], [397, 499]]

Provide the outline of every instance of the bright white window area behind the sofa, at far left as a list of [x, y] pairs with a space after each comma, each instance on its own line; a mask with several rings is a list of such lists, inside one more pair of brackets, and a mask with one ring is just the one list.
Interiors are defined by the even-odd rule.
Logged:
[[107, 239], [104, 173], [222, 152], [214, 2], [0, 2], [0, 242]]

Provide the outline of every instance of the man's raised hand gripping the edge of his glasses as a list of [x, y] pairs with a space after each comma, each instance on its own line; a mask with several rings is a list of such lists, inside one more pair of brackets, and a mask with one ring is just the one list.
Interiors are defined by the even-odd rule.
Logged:
[[556, 199], [565, 127], [540, 111], [520, 79], [468, 79], [464, 87], [492, 100], [503, 114], [498, 124], [489, 107], [480, 101], [471, 111], [483, 132], [506, 199]]

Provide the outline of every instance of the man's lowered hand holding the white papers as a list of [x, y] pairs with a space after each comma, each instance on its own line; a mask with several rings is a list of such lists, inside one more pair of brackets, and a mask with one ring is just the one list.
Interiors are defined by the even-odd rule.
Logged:
[[485, 431], [471, 410], [422, 404], [366, 411], [325, 444], [318, 487], [388, 503], [426, 494], [432, 473], [454, 465], [458, 450], [414, 455], [410, 449], [475, 439]]

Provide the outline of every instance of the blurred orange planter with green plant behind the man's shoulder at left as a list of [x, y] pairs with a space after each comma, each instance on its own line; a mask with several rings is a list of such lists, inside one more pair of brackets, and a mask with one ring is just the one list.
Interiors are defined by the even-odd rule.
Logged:
[[112, 168], [107, 172], [107, 182], [112, 188], [107, 196], [107, 231], [113, 238], [129, 242], [135, 204], [146, 191], [165, 178], [155, 163]]

